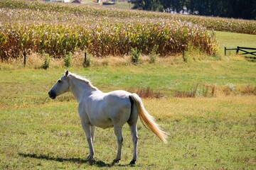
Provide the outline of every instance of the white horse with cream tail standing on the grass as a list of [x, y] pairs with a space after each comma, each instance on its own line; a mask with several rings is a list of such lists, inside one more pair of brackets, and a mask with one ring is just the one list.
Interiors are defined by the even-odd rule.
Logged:
[[96, 127], [103, 129], [114, 127], [118, 149], [117, 157], [114, 159], [113, 164], [119, 162], [123, 142], [122, 126], [124, 123], [128, 123], [134, 145], [130, 164], [135, 164], [137, 160], [138, 117], [146, 128], [149, 128], [166, 143], [167, 133], [161, 130], [159, 125], [155, 123], [154, 118], [147, 113], [142, 99], [137, 94], [130, 94], [127, 91], [121, 90], [103, 93], [95, 86], [92, 86], [87, 79], [66, 71], [63, 77], [60, 77], [52, 89], [50, 89], [48, 94], [50, 98], [55, 99], [67, 91], [71, 91], [79, 103], [78, 112], [90, 147], [90, 154], [87, 156], [88, 160], [91, 161], [94, 155], [92, 142], [95, 140]]

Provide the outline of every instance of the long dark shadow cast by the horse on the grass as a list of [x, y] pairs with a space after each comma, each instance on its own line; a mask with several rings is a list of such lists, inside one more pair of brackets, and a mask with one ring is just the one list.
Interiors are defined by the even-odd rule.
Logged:
[[102, 162], [101, 160], [92, 159], [92, 160], [85, 160], [81, 158], [62, 158], [62, 157], [53, 157], [50, 156], [49, 154], [24, 154], [24, 153], [18, 153], [19, 156], [21, 157], [30, 157], [30, 158], [35, 158], [35, 159], [46, 159], [50, 161], [55, 161], [55, 162], [73, 162], [73, 163], [78, 163], [78, 164], [84, 164], [88, 163], [90, 165], [96, 165], [98, 167], [110, 167], [113, 166], [113, 164], [106, 164], [105, 162]]

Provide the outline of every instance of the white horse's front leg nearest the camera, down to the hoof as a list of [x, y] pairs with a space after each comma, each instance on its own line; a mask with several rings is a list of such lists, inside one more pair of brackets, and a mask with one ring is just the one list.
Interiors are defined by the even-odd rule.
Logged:
[[90, 154], [87, 156], [87, 160], [92, 161], [94, 151], [93, 151], [93, 146], [92, 146], [93, 139], [92, 139], [92, 135], [91, 135], [90, 124], [87, 123], [87, 121], [85, 119], [81, 119], [81, 123], [82, 123], [82, 128], [85, 131], [86, 139], [87, 139], [89, 149], [90, 149]]

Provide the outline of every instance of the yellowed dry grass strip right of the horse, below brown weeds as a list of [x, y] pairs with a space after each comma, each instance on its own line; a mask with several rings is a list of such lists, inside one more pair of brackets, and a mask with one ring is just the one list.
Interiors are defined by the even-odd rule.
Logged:
[[255, 115], [256, 96], [220, 96], [215, 98], [146, 98], [146, 110], [156, 118], [240, 118]]

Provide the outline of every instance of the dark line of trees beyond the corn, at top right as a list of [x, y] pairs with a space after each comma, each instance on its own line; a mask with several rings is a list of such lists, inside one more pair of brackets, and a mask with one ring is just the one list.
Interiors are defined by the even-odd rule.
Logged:
[[130, 0], [135, 9], [256, 19], [255, 0]]

